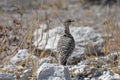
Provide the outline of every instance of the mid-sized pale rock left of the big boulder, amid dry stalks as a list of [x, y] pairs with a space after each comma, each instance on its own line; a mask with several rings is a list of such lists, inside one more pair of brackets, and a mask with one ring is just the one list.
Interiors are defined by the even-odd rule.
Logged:
[[16, 64], [18, 62], [25, 61], [28, 58], [28, 56], [29, 56], [28, 50], [22, 49], [19, 50], [18, 53], [16, 53], [16, 55], [10, 59], [10, 62], [12, 64]]

